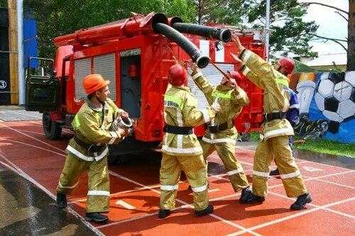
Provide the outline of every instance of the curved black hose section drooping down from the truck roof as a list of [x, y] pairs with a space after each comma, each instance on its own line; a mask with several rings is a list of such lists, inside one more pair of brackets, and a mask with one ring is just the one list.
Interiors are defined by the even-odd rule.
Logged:
[[175, 30], [174, 28], [171, 28], [170, 26], [163, 23], [157, 23], [153, 30], [156, 33], [165, 35], [177, 43], [191, 57], [192, 61], [196, 62], [197, 67], [207, 67], [207, 64], [209, 63], [209, 57], [204, 56], [200, 49], [196, 47], [196, 45], [188, 40], [184, 35], [182, 35], [182, 33], [180, 33], [178, 30]]

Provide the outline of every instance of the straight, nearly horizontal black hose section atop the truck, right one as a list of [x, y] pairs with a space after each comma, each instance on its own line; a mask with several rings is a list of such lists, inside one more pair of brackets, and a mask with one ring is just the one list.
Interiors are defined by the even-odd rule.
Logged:
[[210, 26], [200, 26], [191, 23], [172, 22], [171, 27], [181, 33], [190, 33], [192, 35], [200, 35], [205, 38], [214, 38], [228, 43], [231, 40], [231, 30], [220, 29]]

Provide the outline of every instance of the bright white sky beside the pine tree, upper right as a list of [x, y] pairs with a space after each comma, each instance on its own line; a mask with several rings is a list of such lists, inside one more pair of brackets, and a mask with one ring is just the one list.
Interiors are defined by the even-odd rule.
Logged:
[[[349, 0], [299, 0], [299, 2], [319, 2], [349, 11]], [[315, 21], [320, 26], [317, 35], [346, 40], [348, 23], [342, 18], [345, 15], [343, 13], [342, 16], [339, 16], [335, 11], [335, 9], [326, 6], [311, 4], [304, 21]], [[313, 45], [312, 51], [318, 52], [318, 55], [346, 53], [344, 48], [331, 40], [328, 40], [327, 43], [324, 43], [324, 40], [314, 40], [310, 44]], [[346, 43], [344, 45], [347, 46]]]

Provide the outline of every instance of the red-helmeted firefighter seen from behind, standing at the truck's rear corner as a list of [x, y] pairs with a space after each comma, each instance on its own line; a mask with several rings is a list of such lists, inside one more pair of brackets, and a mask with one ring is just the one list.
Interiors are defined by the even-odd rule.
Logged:
[[[202, 125], [214, 118], [219, 104], [213, 104], [202, 111], [197, 110], [197, 100], [190, 88], [183, 86], [187, 72], [180, 64], [174, 64], [168, 72], [168, 89], [164, 95], [165, 135], [163, 137], [163, 158], [160, 167], [160, 210], [158, 218], [170, 215], [175, 208], [180, 173], [183, 170], [192, 187], [195, 214], [207, 215], [213, 212], [209, 205], [207, 189], [207, 167], [202, 148], [192, 127]], [[170, 86], [171, 85], [171, 86]]]

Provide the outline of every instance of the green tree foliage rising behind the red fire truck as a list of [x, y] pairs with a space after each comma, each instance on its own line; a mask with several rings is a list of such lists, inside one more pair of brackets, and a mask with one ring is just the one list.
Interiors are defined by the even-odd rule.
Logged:
[[[355, 0], [349, 0], [348, 65], [351, 62], [353, 67], [354, 4]], [[129, 18], [131, 11], [144, 14], [162, 12], [168, 17], [180, 16], [184, 22], [201, 24], [218, 22], [241, 28], [266, 26], [266, 0], [24, 0], [23, 5], [35, 10], [40, 57], [54, 57], [55, 37]], [[270, 22], [271, 29], [275, 30], [270, 36], [271, 57], [317, 55], [312, 52], [309, 42], [315, 37], [318, 26], [314, 21], [302, 20], [307, 6], [297, 0], [271, 1]], [[350, 52], [352, 56], [349, 57]]]

